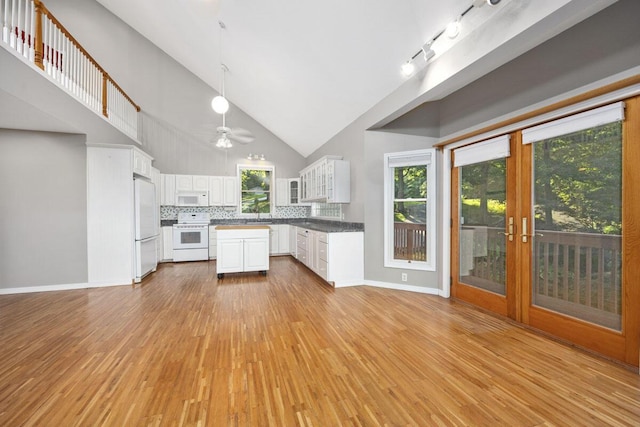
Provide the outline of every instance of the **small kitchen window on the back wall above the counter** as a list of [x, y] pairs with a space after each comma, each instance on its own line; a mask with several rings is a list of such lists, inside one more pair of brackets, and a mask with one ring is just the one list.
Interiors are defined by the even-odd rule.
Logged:
[[273, 167], [238, 165], [240, 214], [271, 214]]

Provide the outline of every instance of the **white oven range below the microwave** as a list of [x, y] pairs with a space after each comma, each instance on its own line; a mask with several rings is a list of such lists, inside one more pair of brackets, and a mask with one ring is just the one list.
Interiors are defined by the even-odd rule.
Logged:
[[179, 212], [173, 225], [173, 261], [209, 259], [209, 214]]

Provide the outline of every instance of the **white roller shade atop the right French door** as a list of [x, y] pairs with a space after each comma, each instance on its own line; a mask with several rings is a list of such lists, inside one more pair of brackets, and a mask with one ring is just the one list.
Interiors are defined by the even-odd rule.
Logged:
[[559, 135], [567, 135], [579, 130], [590, 129], [624, 119], [624, 102], [616, 102], [594, 108], [569, 117], [557, 119], [522, 130], [522, 143], [542, 141]]

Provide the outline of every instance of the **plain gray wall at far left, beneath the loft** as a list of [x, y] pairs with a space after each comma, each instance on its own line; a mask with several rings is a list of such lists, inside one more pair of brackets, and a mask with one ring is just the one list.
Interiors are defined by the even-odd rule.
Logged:
[[0, 129], [0, 288], [87, 282], [84, 144]]

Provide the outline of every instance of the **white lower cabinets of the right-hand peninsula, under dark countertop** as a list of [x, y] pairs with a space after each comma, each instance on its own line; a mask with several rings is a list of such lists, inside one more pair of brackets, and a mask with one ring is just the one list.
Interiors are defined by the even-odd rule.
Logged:
[[364, 233], [324, 233], [296, 227], [296, 258], [335, 287], [362, 284]]

